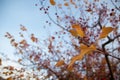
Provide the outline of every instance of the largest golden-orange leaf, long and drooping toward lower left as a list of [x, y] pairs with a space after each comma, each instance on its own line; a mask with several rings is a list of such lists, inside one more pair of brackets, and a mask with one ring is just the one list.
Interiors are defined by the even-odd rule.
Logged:
[[68, 68], [71, 67], [75, 63], [75, 61], [82, 60], [85, 54], [89, 54], [92, 51], [96, 50], [96, 46], [92, 44], [90, 47], [87, 47], [86, 45], [81, 44], [80, 49], [81, 49], [80, 54], [77, 56], [74, 56], [71, 59], [71, 62], [69, 64]]

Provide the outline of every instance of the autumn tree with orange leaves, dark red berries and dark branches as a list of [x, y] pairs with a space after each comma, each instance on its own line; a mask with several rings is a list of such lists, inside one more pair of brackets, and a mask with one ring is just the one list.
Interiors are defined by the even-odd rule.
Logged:
[[[18, 63], [36, 79], [119, 80], [120, 7], [117, 0], [40, 0], [35, 4], [58, 27], [41, 40], [20, 25], [20, 38], [5, 37], [15, 47]], [[50, 31], [49, 31], [50, 32]], [[26, 36], [27, 35], [27, 36]], [[38, 73], [47, 72], [39, 75]]]

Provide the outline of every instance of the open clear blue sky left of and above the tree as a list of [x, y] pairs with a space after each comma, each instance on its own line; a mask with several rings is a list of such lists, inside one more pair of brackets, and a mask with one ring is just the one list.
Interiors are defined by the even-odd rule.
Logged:
[[17, 36], [20, 24], [26, 26], [28, 31], [36, 36], [44, 36], [43, 26], [45, 19], [43, 13], [35, 6], [38, 0], [0, 0], [0, 52], [9, 57], [14, 52], [9, 40], [4, 37], [6, 32]]

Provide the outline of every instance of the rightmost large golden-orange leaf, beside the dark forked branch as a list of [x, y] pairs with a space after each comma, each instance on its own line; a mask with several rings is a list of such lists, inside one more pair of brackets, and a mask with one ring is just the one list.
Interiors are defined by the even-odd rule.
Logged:
[[113, 29], [114, 28], [112, 27], [103, 27], [99, 39], [107, 37], [108, 34], [113, 31]]

